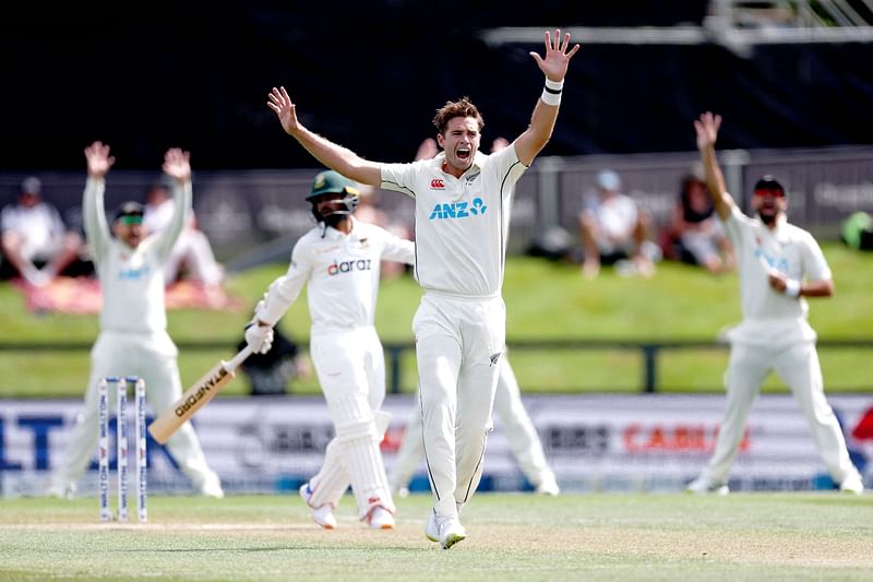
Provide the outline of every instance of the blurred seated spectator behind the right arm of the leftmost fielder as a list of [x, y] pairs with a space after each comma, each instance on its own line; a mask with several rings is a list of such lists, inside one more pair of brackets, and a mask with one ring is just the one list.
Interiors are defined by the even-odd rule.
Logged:
[[[143, 225], [148, 233], [159, 233], [167, 227], [172, 217], [174, 204], [167, 185], [156, 182], [152, 186], [146, 195], [143, 216]], [[188, 224], [164, 266], [165, 283], [171, 285], [182, 278], [183, 273], [187, 278], [205, 286], [220, 285], [225, 276], [224, 268], [215, 260], [210, 240], [198, 228], [193, 214], [189, 216]]]

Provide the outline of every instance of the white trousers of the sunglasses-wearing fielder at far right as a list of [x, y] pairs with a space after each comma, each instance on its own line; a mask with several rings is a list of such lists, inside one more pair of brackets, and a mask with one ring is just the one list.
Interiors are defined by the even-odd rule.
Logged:
[[840, 484], [858, 470], [849, 459], [846, 439], [824, 393], [818, 354], [812, 342], [777, 346], [734, 343], [726, 375], [727, 409], [718, 431], [713, 458], [704, 476], [727, 483], [737, 458], [740, 440], [761, 384], [775, 371], [788, 385], [812, 431], [815, 448], [835, 483]]

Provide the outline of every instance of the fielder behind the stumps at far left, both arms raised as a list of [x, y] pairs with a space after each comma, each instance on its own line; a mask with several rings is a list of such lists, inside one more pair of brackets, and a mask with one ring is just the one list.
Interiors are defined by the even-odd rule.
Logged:
[[[91, 352], [91, 378], [85, 407], [76, 418], [61, 464], [49, 492], [70, 497], [97, 449], [97, 384], [107, 376], [139, 376], [145, 380], [146, 399], [153, 411], [164, 411], [182, 395], [178, 349], [167, 333], [164, 306], [164, 262], [182, 228], [184, 209], [191, 206], [189, 154], [169, 150], [163, 169], [174, 178], [179, 212], [172, 226], [146, 236], [143, 206], [123, 204], [111, 224], [104, 210], [105, 177], [115, 164], [109, 146], [95, 142], [85, 149], [88, 178], [82, 214], [92, 259], [103, 290], [100, 334]], [[112, 236], [115, 235], [115, 236]], [[110, 405], [115, 394], [110, 393]], [[218, 476], [208, 467], [190, 423], [167, 442], [179, 468], [203, 495], [224, 497]]]

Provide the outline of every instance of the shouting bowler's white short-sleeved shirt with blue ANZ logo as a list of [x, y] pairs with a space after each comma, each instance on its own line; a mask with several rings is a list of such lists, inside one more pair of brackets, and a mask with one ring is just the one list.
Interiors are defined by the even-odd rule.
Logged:
[[382, 188], [416, 199], [416, 278], [427, 290], [500, 295], [515, 185], [527, 170], [510, 145], [476, 153], [461, 178], [442, 169], [445, 153], [383, 164]]

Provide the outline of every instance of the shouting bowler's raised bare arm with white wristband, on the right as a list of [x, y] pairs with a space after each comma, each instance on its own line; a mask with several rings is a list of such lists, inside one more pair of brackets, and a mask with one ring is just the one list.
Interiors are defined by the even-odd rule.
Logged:
[[537, 61], [537, 67], [546, 75], [546, 87], [534, 107], [530, 126], [515, 140], [515, 154], [525, 166], [534, 163], [534, 158], [546, 147], [552, 136], [566, 69], [570, 66], [570, 59], [573, 58], [579, 46], [574, 45], [567, 52], [569, 48], [570, 33], [564, 34], [562, 40], [561, 31], [554, 31], [554, 38], [549, 31], [546, 31], [546, 57], [540, 57], [538, 52], [530, 52], [530, 56]]

